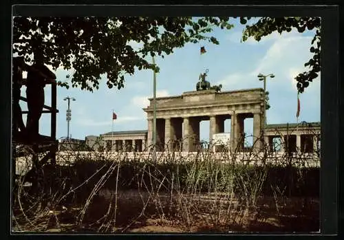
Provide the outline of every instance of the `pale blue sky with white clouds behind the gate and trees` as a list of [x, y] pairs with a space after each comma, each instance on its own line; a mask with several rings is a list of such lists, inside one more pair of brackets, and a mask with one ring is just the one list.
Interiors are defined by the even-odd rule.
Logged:
[[[215, 29], [213, 36], [219, 45], [211, 43], [189, 43], [176, 49], [165, 58], [155, 58], [160, 67], [157, 75], [157, 96], [176, 96], [184, 91], [194, 91], [200, 72], [209, 69], [208, 80], [212, 85], [222, 83], [222, 91], [263, 87], [257, 75], [275, 74], [268, 78], [267, 90], [270, 92], [271, 108], [267, 111], [268, 124], [296, 122], [297, 88], [294, 77], [306, 70], [303, 64], [311, 54], [310, 41], [313, 32], [274, 33], [257, 42], [249, 39], [240, 43], [244, 25], [237, 19], [230, 20], [235, 27], [231, 30]], [[132, 47], [140, 47], [132, 43]], [[206, 48], [206, 54], [200, 56], [200, 47]], [[58, 80], [65, 80], [67, 72], [56, 70]], [[45, 89], [45, 105], [50, 105], [50, 87]], [[25, 96], [25, 87], [22, 88]], [[111, 131], [112, 109], [118, 118], [114, 121], [114, 131], [147, 129], [147, 114], [142, 110], [153, 96], [153, 72], [137, 71], [127, 76], [123, 89], [108, 89], [106, 79], [102, 78], [100, 88], [89, 92], [78, 88], [57, 89], [56, 138], [67, 135], [66, 96], [76, 98], [71, 102], [72, 120], [70, 133], [72, 138], [85, 139], [86, 135], [100, 135]], [[301, 113], [299, 122], [320, 121], [320, 77], [300, 95]], [[27, 109], [25, 102], [22, 109]], [[24, 117], [24, 121], [26, 121]], [[230, 131], [225, 122], [225, 132]], [[245, 120], [246, 133], [252, 133], [252, 119]], [[43, 114], [40, 120], [40, 133], [50, 135], [50, 115]], [[209, 122], [200, 124], [200, 137], [208, 140]]]

